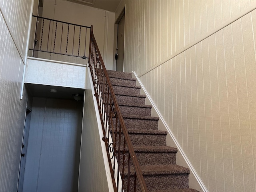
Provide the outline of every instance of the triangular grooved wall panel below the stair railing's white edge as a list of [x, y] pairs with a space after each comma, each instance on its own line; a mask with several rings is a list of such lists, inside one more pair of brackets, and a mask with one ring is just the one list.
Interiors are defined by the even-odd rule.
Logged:
[[93, 102], [94, 96], [92, 95], [89, 76], [86, 76], [78, 191], [108, 192], [108, 182], [100, 144], [102, 139], [99, 135]]

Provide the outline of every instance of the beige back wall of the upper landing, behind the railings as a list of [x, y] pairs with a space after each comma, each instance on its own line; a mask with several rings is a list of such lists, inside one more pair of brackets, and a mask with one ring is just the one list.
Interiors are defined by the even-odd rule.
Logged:
[[[73, 24], [79, 24], [83, 26], [93, 25], [94, 36], [96, 38], [98, 47], [100, 49], [100, 53], [102, 54], [102, 58], [104, 59], [106, 68], [112, 70], [113, 56], [114, 56], [113, 55], [113, 46], [114, 46], [114, 13], [113, 12], [108, 12], [105, 10], [92, 8], [90, 6], [76, 4], [66, 0], [57, 0], [56, 5], [55, 5], [55, 1], [46, 0], [43, 3], [44, 3], [43, 15], [42, 15], [43, 17], [60, 20], [64, 22], [69, 22]], [[47, 28], [47, 27], [48, 26], [46, 23], [44, 28]], [[61, 29], [59, 28], [57, 29], [57, 31], [59, 31], [59, 34], [61, 34], [60, 30]], [[52, 30], [51, 28], [50, 30], [51, 34], [52, 34], [52, 31], [55, 32], [55, 27], [54, 27], [54, 30]], [[72, 35], [73, 31], [74, 31], [74, 27], [70, 28], [71, 40], [69, 40], [69, 42], [72, 42], [73, 40], [73, 35]], [[77, 35], [79, 36], [79, 34]], [[50, 35], [50, 39], [52, 39], [51, 35]], [[87, 45], [86, 56], [88, 56], [89, 41], [90, 41], [90, 29], [87, 30], [87, 36], [86, 36], [86, 45]], [[38, 42], [40, 42], [40, 37], [38, 37]], [[44, 46], [47, 46], [47, 45], [45, 44]], [[58, 45], [56, 45], [56, 47], [57, 46]], [[66, 48], [66, 41], [63, 42], [62, 46], [65, 46]], [[82, 43], [82, 40], [81, 40], [80, 52], [84, 52], [83, 47], [84, 47], [84, 43]], [[86, 62], [88, 62], [88, 60], [85, 61], [80, 58], [74, 59], [71, 57], [60, 56], [56, 54], [52, 54], [52, 56], [50, 57], [49, 54], [39, 53], [38, 57], [47, 58], [51, 60], [62, 60], [66, 62], [74, 62], [74, 63], [80, 63], [80, 64], [86, 64]]]

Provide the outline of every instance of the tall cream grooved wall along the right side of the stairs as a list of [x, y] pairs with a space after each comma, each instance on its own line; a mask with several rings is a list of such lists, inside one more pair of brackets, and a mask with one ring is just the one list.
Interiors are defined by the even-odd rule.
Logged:
[[[146, 71], [252, 0], [122, 1], [135, 71], [210, 192], [256, 191], [256, 10]], [[148, 72], [144, 74], [144, 72]]]

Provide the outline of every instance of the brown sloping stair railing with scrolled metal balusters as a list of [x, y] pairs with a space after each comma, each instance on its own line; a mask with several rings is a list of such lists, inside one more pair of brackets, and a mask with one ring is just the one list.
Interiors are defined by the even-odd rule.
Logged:
[[89, 67], [94, 83], [94, 96], [98, 102], [104, 134], [102, 140], [105, 142], [108, 154], [114, 191], [147, 192], [110, 78], [94, 38], [93, 26], [90, 30]]

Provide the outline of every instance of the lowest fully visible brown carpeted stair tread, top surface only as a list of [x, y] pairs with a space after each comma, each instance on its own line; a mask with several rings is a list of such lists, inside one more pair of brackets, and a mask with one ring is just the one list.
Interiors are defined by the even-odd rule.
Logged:
[[[176, 164], [166, 165], [142, 165], [140, 170], [143, 176], [150, 175], [176, 175], [176, 174], [189, 174], [190, 170]], [[124, 174], [128, 174], [128, 168], [125, 168]], [[134, 175], [134, 168], [131, 167], [131, 175]]]

